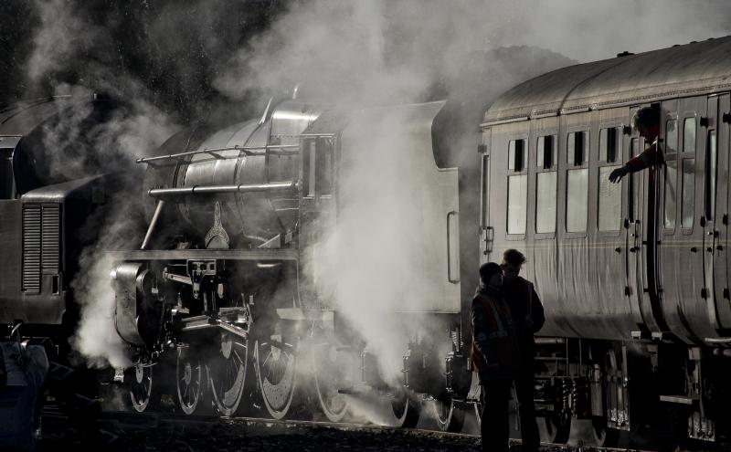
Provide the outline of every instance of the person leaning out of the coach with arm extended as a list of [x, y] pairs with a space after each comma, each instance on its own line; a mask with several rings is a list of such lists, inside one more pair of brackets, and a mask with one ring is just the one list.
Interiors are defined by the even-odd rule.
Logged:
[[[609, 173], [609, 182], [619, 184], [622, 177], [628, 173], [637, 173], [662, 163], [662, 152], [657, 142], [657, 137], [660, 135], [660, 109], [643, 107], [637, 110], [632, 116], [632, 127], [650, 145], [640, 155], [631, 158], [624, 166]], [[651, 180], [654, 180], [654, 172], [651, 173]]]

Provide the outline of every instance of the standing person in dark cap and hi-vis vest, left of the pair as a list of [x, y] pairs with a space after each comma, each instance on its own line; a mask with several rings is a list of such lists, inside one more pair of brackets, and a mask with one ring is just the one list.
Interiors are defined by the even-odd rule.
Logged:
[[494, 262], [480, 267], [480, 287], [471, 306], [471, 370], [480, 376], [482, 450], [507, 452], [510, 387], [517, 374], [517, 337], [503, 300], [503, 270]]

